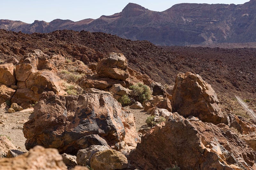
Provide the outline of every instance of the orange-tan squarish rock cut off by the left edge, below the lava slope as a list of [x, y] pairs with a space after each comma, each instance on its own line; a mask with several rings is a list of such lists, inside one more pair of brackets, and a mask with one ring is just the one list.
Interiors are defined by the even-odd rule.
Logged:
[[15, 71], [12, 63], [0, 64], [0, 83], [7, 86], [15, 85]]

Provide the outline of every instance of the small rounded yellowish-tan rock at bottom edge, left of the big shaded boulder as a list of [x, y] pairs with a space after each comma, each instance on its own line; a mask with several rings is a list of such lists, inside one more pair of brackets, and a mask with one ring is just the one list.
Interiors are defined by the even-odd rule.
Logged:
[[127, 158], [116, 150], [96, 152], [92, 156], [90, 164], [92, 169], [97, 170], [114, 170], [128, 167]]

